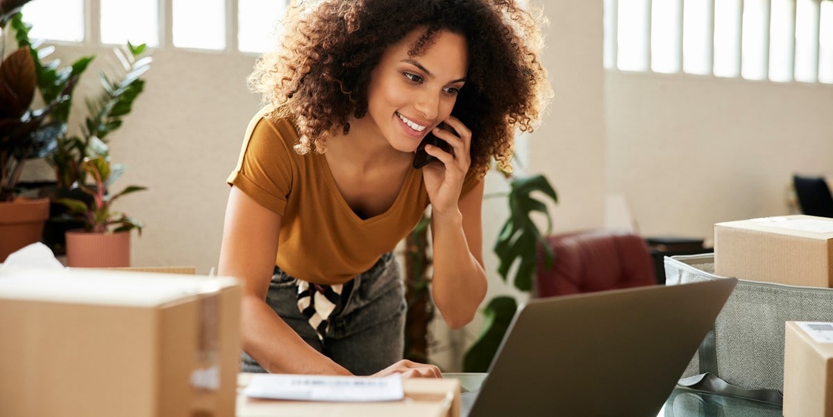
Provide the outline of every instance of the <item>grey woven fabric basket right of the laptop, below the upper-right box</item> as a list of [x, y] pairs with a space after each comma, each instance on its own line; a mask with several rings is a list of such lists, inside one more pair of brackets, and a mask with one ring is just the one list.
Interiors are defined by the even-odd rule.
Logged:
[[[665, 269], [666, 285], [724, 278], [714, 254], [666, 257]], [[833, 289], [738, 280], [681, 385], [780, 404], [788, 320], [833, 321]]]

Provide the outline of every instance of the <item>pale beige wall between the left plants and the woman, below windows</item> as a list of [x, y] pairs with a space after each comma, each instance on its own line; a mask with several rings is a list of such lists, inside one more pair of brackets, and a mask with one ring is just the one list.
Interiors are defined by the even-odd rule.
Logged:
[[[59, 46], [63, 64], [77, 57], [96, 59], [82, 77], [73, 102], [71, 126], [86, 116], [82, 97], [101, 92], [97, 72], [109, 47]], [[57, 54], [56, 54], [57, 55]], [[195, 266], [208, 273], [217, 266], [228, 186], [243, 133], [260, 98], [246, 77], [255, 57], [225, 52], [160, 49], [143, 78], [145, 90], [108, 138], [112, 161], [128, 166], [113, 185], [147, 186], [114, 207], [145, 223], [132, 236], [133, 266]], [[29, 179], [49, 172], [32, 164]]]

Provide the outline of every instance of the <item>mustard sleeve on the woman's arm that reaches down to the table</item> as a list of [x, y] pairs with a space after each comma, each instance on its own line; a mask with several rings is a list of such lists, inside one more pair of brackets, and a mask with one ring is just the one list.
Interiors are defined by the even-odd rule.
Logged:
[[[283, 216], [292, 189], [292, 146], [297, 133], [286, 120], [272, 122], [260, 112], [252, 118], [237, 167], [227, 183], [258, 204]], [[292, 153], [290, 153], [292, 152]]]

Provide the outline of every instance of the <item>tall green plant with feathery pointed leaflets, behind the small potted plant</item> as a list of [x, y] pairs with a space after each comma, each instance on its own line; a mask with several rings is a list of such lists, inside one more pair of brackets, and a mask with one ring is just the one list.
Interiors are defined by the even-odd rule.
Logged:
[[[30, 47], [35, 64], [37, 87], [45, 102], [52, 97], [61, 96], [64, 100], [51, 112], [47, 121], [66, 127], [72, 110], [72, 90], [62, 92], [58, 86], [67, 79], [77, 80], [95, 58], [81, 57], [69, 67], [59, 68], [60, 60], [45, 61], [53, 47], [38, 47], [29, 39], [28, 32], [32, 25], [23, 22], [17, 13], [10, 19], [17, 44], [19, 47]], [[59, 198], [89, 199], [89, 196], [78, 188], [78, 184], [86, 181], [86, 171], [81, 165], [87, 156], [104, 155], [107, 153], [108, 135], [122, 126], [122, 118], [132, 110], [132, 103], [144, 89], [144, 81], [140, 76], [150, 68], [152, 58], [144, 44], [132, 45], [127, 42], [112, 49], [112, 62], [108, 72], [100, 72], [101, 91], [92, 97], [85, 97], [87, 117], [80, 127], [80, 132], [64, 128], [56, 141], [42, 157], [55, 171], [55, 181], [37, 183], [39, 196], [47, 197], [51, 201], [49, 207], [50, 220], [47, 220], [43, 231], [43, 241], [56, 255], [65, 252], [65, 232], [72, 228], [81, 227], [80, 223], [69, 221], [52, 221], [61, 216], [65, 206], [58, 204]], [[89, 200], [88, 200], [89, 201]], [[89, 201], [92, 202], [92, 201]]]

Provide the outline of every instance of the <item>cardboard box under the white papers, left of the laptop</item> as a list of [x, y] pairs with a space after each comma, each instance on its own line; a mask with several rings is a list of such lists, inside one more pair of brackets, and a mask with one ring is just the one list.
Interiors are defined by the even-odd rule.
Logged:
[[402, 380], [405, 399], [371, 403], [257, 400], [242, 394], [252, 374], [240, 374], [237, 417], [460, 417], [460, 381], [433, 378]]

